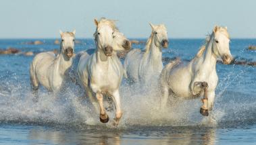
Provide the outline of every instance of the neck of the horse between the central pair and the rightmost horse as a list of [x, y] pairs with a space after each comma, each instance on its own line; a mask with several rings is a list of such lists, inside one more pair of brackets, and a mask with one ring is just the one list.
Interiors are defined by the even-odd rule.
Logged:
[[150, 62], [153, 66], [159, 67], [159, 64], [163, 64], [162, 62], [162, 52], [159, 46], [155, 45], [155, 41], [151, 41], [149, 54], [147, 54], [147, 61]]

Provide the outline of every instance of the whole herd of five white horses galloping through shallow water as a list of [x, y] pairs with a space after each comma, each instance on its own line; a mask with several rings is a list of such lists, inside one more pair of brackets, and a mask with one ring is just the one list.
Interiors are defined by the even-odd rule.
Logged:
[[[74, 54], [76, 31], [60, 31], [59, 54], [55, 56], [53, 52], [41, 52], [34, 57], [30, 64], [33, 93], [38, 91], [39, 85], [57, 93], [63, 81], [72, 77], [84, 88], [86, 97], [99, 112], [103, 123], [109, 121], [103, 98], [105, 95], [111, 96], [116, 105], [114, 124], [118, 125], [122, 117], [122, 77], [140, 85], [150, 85], [150, 80], [155, 78], [161, 90], [161, 109], [167, 107], [168, 99], [203, 97], [200, 113], [209, 115], [218, 80], [215, 69], [217, 59], [222, 58], [224, 64], [229, 64], [232, 60], [227, 28], [215, 26], [206, 44], [190, 62], [183, 63], [176, 59], [163, 66], [162, 48], [168, 48], [168, 33], [164, 25], [150, 23], [152, 32], [144, 50], [130, 50], [130, 41], [119, 32], [115, 21], [111, 19], [95, 19], [95, 26], [93, 36], [96, 49], [93, 54], [89, 55], [86, 51]], [[120, 51], [128, 52], [124, 66], [117, 55]], [[73, 70], [72, 76], [67, 73], [70, 68]]]

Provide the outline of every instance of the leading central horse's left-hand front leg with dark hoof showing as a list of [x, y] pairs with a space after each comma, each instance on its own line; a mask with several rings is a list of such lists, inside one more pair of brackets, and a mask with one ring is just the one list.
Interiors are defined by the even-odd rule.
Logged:
[[107, 123], [109, 122], [109, 116], [107, 115], [105, 111], [105, 107], [103, 106], [103, 95], [101, 94], [101, 92], [98, 91], [96, 93], [96, 97], [99, 102], [99, 110], [100, 110], [99, 119], [102, 123]]

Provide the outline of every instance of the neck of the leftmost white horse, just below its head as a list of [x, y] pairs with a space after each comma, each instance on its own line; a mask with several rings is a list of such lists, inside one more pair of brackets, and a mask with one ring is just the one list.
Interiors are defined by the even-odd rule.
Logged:
[[55, 59], [55, 68], [57, 73], [63, 76], [68, 68], [72, 65], [72, 58], [65, 58], [65, 56], [60, 53]]

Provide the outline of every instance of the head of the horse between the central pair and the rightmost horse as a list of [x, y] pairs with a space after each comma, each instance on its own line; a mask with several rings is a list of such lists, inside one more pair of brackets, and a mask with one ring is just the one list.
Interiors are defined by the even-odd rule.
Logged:
[[163, 24], [153, 25], [149, 23], [152, 28], [153, 41], [155, 41], [156, 46], [161, 46], [162, 48], [168, 48], [168, 36], [167, 30]]

